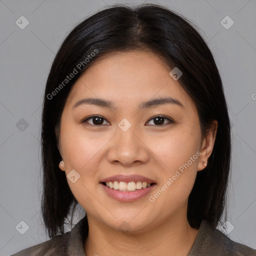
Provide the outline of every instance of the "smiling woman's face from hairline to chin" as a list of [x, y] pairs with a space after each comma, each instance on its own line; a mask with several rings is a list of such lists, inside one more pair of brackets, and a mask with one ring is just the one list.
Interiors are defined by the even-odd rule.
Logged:
[[[96, 61], [73, 85], [61, 116], [60, 168], [88, 219], [130, 231], [186, 219], [210, 149], [201, 148], [193, 100], [169, 72], [152, 52], [119, 52]], [[95, 100], [81, 101], [88, 98]], [[160, 98], [168, 102], [145, 103]], [[143, 182], [153, 184], [141, 188]]]

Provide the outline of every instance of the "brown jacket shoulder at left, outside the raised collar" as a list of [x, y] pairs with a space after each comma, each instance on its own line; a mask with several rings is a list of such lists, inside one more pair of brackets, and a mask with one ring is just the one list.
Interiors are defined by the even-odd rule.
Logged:
[[39, 255], [67, 255], [67, 244], [70, 237], [70, 231], [56, 235], [55, 237], [20, 250], [10, 256], [39, 256]]

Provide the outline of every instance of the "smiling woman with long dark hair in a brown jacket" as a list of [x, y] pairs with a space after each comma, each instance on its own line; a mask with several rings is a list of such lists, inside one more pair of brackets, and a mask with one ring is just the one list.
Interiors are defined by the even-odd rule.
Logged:
[[[199, 33], [162, 6], [111, 6], [53, 61], [42, 113], [48, 241], [13, 255], [256, 255], [216, 229], [230, 124]], [[79, 203], [86, 215], [64, 233]]]

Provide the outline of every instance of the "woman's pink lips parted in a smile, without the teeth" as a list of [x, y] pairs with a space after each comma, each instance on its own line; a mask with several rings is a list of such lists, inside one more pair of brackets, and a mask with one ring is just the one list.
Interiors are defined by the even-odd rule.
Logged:
[[[119, 191], [110, 187], [105, 186], [105, 182], [109, 182], [109, 181], [124, 181], [124, 182], [130, 182], [130, 181], [134, 181], [134, 182], [138, 182], [138, 181], [142, 181], [142, 182], [147, 182], [147, 183], [153, 183], [151, 184], [149, 187], [146, 188], [141, 188], [138, 190], [134, 190], [134, 191]], [[104, 189], [104, 191], [106, 192], [106, 194], [118, 201], [121, 202], [132, 202], [132, 201], [136, 201], [140, 198], [142, 198], [143, 196], [147, 195], [152, 189], [154, 189], [156, 182], [152, 179], [149, 179], [147, 177], [141, 176], [141, 175], [114, 175], [114, 176], [110, 176], [107, 177], [105, 179], [102, 179], [99, 182], [99, 185]]]

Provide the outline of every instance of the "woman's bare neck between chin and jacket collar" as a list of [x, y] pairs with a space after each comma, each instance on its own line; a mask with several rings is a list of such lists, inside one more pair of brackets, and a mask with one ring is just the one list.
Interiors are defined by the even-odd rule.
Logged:
[[88, 216], [89, 232], [84, 242], [89, 255], [180, 255], [186, 256], [198, 229], [186, 216], [169, 218], [144, 232], [122, 232], [98, 223]]

